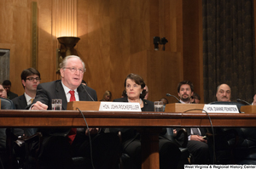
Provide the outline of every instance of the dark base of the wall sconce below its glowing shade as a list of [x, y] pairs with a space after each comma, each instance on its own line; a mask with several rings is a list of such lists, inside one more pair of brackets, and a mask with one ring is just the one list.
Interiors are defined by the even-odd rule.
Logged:
[[79, 37], [58, 37], [58, 41], [61, 43], [61, 47], [57, 49], [56, 68], [57, 73], [60, 72], [61, 61], [69, 55], [78, 55], [74, 49], [76, 44], [79, 42]]

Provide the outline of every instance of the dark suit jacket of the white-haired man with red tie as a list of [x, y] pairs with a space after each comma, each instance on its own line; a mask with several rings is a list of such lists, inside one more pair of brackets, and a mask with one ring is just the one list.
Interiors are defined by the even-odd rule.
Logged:
[[[86, 91], [84, 90], [86, 89]], [[82, 84], [77, 88], [79, 93], [80, 101], [97, 101], [96, 91], [90, 87], [82, 86]], [[90, 96], [89, 96], [90, 94]], [[90, 97], [93, 99], [90, 99]], [[48, 105], [48, 110], [51, 108], [52, 99], [62, 99], [62, 108], [61, 110], [67, 110], [67, 98], [64, 92], [64, 88], [61, 85], [61, 80], [54, 82], [45, 82], [40, 83], [37, 88], [36, 98], [33, 100], [32, 104], [35, 104], [37, 101], [42, 102], [43, 104]], [[67, 136], [69, 129], [65, 128], [51, 128], [51, 129], [40, 129], [40, 132], [44, 134], [49, 134], [53, 136]]]

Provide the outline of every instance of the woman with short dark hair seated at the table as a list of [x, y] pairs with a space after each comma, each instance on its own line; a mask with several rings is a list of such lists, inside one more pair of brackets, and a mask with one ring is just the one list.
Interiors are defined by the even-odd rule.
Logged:
[[[143, 99], [146, 93], [146, 90], [143, 89], [144, 87], [145, 82], [143, 77], [131, 73], [125, 79], [126, 96], [124, 98], [114, 99], [113, 102], [139, 103], [142, 111], [154, 111], [154, 103]], [[110, 131], [121, 132], [123, 142], [122, 152], [131, 158], [131, 162], [128, 163], [129, 166], [125, 166], [127, 163], [124, 162], [124, 168], [141, 168], [140, 134], [133, 128], [110, 128]], [[161, 136], [159, 140], [160, 169], [177, 168], [177, 163], [181, 155], [177, 145]]]

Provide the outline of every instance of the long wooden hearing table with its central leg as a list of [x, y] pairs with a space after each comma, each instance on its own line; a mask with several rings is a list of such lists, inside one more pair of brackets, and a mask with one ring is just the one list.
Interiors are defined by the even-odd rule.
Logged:
[[[143, 169], [159, 168], [161, 127], [210, 127], [205, 113], [82, 111], [89, 127], [136, 127]], [[210, 114], [213, 127], [256, 127], [256, 114]], [[86, 127], [78, 110], [0, 110], [0, 127]]]

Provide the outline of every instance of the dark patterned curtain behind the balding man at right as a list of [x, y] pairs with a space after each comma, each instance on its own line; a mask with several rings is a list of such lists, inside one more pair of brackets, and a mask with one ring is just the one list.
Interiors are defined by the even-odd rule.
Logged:
[[253, 0], [202, 0], [205, 103], [218, 85], [231, 87], [231, 101], [253, 102], [256, 93]]

